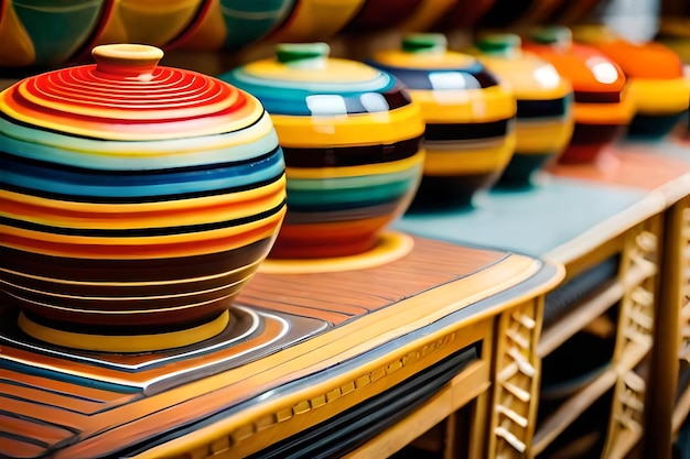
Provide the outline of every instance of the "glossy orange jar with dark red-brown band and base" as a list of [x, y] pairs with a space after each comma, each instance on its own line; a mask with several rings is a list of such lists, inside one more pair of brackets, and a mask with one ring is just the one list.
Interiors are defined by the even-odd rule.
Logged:
[[573, 43], [570, 29], [535, 29], [522, 48], [551, 63], [574, 90], [575, 127], [561, 163], [591, 163], [619, 139], [633, 117], [621, 67], [597, 50]]

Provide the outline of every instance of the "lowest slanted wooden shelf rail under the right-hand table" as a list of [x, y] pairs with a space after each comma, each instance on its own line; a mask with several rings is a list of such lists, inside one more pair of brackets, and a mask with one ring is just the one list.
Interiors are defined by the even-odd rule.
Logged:
[[616, 370], [606, 370], [590, 385], [567, 400], [554, 413], [540, 423], [537, 426], [532, 442], [532, 456], [543, 452], [594, 401], [599, 400], [614, 386], [617, 378]]

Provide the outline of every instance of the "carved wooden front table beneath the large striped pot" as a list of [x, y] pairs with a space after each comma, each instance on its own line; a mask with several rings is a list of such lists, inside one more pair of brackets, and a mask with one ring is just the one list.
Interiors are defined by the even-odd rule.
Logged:
[[408, 240], [382, 265], [260, 272], [228, 330], [165, 352], [37, 342], [2, 298], [0, 456], [387, 457], [465, 405], [471, 440], [446, 457], [527, 448], [539, 314], [562, 267]]

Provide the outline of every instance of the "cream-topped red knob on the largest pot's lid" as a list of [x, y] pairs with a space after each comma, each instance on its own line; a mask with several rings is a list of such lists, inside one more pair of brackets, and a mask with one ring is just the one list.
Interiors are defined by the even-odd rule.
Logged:
[[98, 72], [148, 81], [163, 57], [163, 51], [150, 45], [109, 44], [96, 46], [91, 56]]

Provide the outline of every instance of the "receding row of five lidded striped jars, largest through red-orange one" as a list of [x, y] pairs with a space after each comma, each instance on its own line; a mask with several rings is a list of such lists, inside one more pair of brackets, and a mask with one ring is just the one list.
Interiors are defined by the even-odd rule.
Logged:
[[30, 336], [107, 351], [219, 334], [267, 256], [356, 258], [410, 206], [589, 161], [644, 92], [565, 29], [367, 63], [283, 44], [219, 79], [147, 45], [94, 57], [0, 92], [0, 285]]

